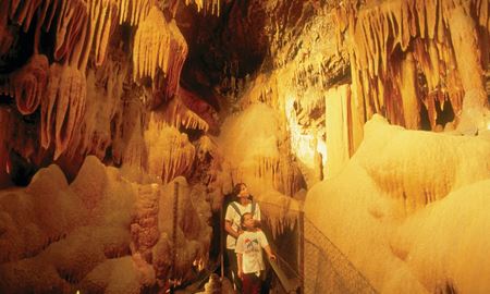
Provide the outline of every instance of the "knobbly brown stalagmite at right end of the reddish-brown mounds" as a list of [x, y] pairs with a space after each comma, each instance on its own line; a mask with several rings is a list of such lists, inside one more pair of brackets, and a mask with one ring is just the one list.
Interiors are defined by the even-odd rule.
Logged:
[[[179, 188], [175, 188], [176, 185]], [[154, 266], [157, 275], [185, 282], [189, 278], [187, 270], [194, 262], [207, 264], [211, 234], [211, 228], [207, 224], [210, 207], [204, 200], [206, 197], [204, 189], [193, 188], [182, 176], [160, 188], [159, 194], [157, 230], [160, 235], [158, 243], [152, 247]], [[176, 209], [161, 209], [163, 207]], [[173, 226], [174, 217], [177, 221], [175, 226]], [[176, 240], [172, 240], [173, 233], [176, 233]], [[173, 258], [175, 264], [171, 271]]]

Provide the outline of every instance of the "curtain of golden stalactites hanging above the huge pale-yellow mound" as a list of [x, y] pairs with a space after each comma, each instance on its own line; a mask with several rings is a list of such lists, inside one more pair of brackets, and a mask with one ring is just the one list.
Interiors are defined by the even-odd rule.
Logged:
[[[438, 99], [439, 102], [443, 102], [448, 95], [448, 100], [451, 101], [455, 113], [461, 113], [464, 108], [460, 101], [463, 89], [467, 93], [469, 88], [477, 86], [468, 84], [481, 79], [476, 77], [478, 75], [481, 77], [478, 70], [471, 71], [471, 73], [462, 73], [462, 71], [468, 66], [481, 69], [481, 64], [479, 64], [481, 62], [478, 61], [480, 56], [478, 46], [473, 45], [463, 53], [462, 49], [458, 49], [462, 47], [455, 44], [457, 38], [453, 36], [453, 32], [473, 36], [474, 33], [470, 33], [471, 29], [468, 30], [468, 27], [474, 22], [479, 23], [488, 30], [488, 1], [383, 1], [377, 4], [369, 3], [360, 9], [357, 4], [357, 1], [347, 1], [336, 9], [335, 15], [338, 20], [343, 16], [348, 20], [348, 22], [341, 21], [343, 25], [340, 26], [340, 35], [347, 29], [351, 36], [352, 72], [358, 71], [358, 78], [353, 78], [353, 82], [358, 84], [356, 86], [358, 93], [364, 99], [367, 99], [367, 119], [372, 113], [370, 110], [372, 107], [376, 112], [383, 113], [380, 111], [382, 110], [380, 101], [393, 99], [384, 90], [385, 84], [392, 83], [390, 81], [394, 78], [390, 73], [395, 71], [389, 68], [399, 68], [399, 63], [403, 61], [397, 56], [400, 52], [408, 51], [414, 53], [414, 59], [426, 77], [428, 94], [430, 94], [428, 97], [418, 97], [418, 99], [426, 100], [428, 107], [432, 109], [431, 106], [434, 101], [428, 101], [428, 99]], [[460, 17], [461, 21], [457, 23], [452, 22], [451, 20], [454, 19], [454, 13], [457, 11], [461, 11], [466, 19]], [[476, 16], [475, 21], [471, 19], [474, 16]], [[469, 26], [455, 28], [465, 24]], [[456, 66], [456, 60], [463, 56], [465, 58], [476, 56], [477, 58], [475, 62], [464, 62], [464, 64], [460, 64], [458, 61]], [[468, 82], [461, 78], [466, 78]], [[467, 86], [462, 88], [460, 81]], [[481, 87], [478, 86], [478, 88]], [[482, 97], [482, 95], [480, 96]], [[401, 99], [406, 99], [406, 97], [402, 96]], [[393, 107], [393, 102], [388, 102], [384, 114], [392, 122], [396, 122], [399, 121], [396, 115], [400, 114]], [[480, 107], [485, 106], [480, 102]], [[429, 115], [434, 122], [436, 112]]]

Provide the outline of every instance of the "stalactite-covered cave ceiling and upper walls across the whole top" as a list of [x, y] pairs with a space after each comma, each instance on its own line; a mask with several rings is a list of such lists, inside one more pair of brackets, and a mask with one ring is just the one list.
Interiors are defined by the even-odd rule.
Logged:
[[52, 162], [73, 177], [87, 155], [148, 171], [149, 125], [195, 143], [257, 101], [297, 128], [286, 136], [296, 157], [314, 146], [311, 162], [317, 150], [326, 160], [326, 108], [340, 99], [327, 97], [341, 91], [350, 155], [375, 113], [463, 133], [488, 115], [486, 1], [1, 3], [5, 185]]

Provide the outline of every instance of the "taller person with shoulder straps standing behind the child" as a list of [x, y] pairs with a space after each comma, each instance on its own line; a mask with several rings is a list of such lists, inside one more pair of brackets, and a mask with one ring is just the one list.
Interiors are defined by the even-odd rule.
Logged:
[[242, 283], [237, 278], [238, 271], [235, 254], [236, 238], [243, 233], [240, 223], [245, 212], [250, 212], [255, 220], [260, 221], [260, 208], [257, 203], [252, 200], [252, 195], [248, 193], [248, 188], [244, 183], [238, 183], [233, 187], [232, 196], [235, 199], [230, 203], [224, 215], [224, 230], [228, 233], [226, 257], [229, 267], [226, 277], [233, 283], [235, 290], [241, 292]]

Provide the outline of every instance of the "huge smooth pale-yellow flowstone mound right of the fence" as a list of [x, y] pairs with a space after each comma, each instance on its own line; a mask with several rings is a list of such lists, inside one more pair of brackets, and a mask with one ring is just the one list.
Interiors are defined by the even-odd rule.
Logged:
[[[306, 218], [379, 292], [486, 292], [475, 269], [490, 270], [481, 234], [489, 155], [488, 137], [411, 131], [375, 115], [345, 169], [308, 192]], [[307, 277], [306, 287], [321, 289], [319, 277]]]

